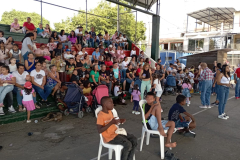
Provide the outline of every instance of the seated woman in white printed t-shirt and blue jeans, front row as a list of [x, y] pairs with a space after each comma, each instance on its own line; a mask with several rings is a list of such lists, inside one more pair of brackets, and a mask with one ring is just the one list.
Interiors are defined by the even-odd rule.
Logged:
[[[31, 82], [33, 84], [34, 90], [40, 95], [42, 98], [42, 101], [39, 102], [40, 105], [43, 105], [44, 103], [47, 106], [50, 106], [51, 104], [47, 101], [48, 95], [50, 95], [52, 89], [45, 86], [46, 83], [46, 75], [43, 70], [41, 70], [42, 65], [40, 62], [35, 63], [35, 68], [31, 73]], [[45, 87], [44, 87], [45, 86]]]

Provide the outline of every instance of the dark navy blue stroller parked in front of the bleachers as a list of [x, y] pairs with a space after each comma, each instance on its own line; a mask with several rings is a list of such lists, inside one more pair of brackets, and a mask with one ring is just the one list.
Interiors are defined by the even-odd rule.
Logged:
[[[68, 90], [64, 98], [64, 102], [67, 104], [67, 109], [64, 111], [64, 115], [77, 114], [79, 118], [83, 117], [83, 107], [85, 107], [85, 97], [82, 94], [82, 89], [74, 83], [66, 83]], [[87, 107], [86, 112], [91, 112], [91, 108]]]

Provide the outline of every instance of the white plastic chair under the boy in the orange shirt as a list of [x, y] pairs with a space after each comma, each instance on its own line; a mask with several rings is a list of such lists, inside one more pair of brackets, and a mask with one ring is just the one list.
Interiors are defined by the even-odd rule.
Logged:
[[[102, 106], [98, 106], [98, 108], [95, 110], [96, 118], [97, 118], [98, 113], [101, 110], [102, 110]], [[117, 111], [115, 109], [112, 110], [112, 113], [113, 113], [113, 117], [118, 117]], [[100, 143], [99, 143], [97, 160], [100, 160], [100, 158], [101, 158], [102, 147], [108, 148], [108, 159], [112, 159], [112, 152], [114, 150], [116, 160], [121, 160], [121, 152], [122, 152], [123, 146], [105, 143], [103, 141], [102, 134], [100, 133]], [[133, 157], [133, 160], [135, 160], [135, 155]]]

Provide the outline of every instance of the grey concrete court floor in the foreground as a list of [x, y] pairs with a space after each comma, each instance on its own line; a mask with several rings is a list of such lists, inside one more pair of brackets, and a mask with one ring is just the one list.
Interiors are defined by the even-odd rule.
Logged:
[[[215, 96], [211, 96], [213, 102]], [[122, 126], [137, 138], [141, 137], [141, 115], [132, 115], [132, 103], [116, 106], [120, 118], [127, 122]], [[163, 96], [163, 117], [175, 102], [175, 96]], [[181, 160], [239, 160], [240, 100], [234, 98], [231, 90], [226, 105], [228, 120], [217, 118], [217, 107], [200, 109], [200, 96], [193, 95], [190, 107], [184, 108], [195, 115], [196, 138], [184, 137], [175, 133], [172, 141], [177, 147], [171, 152]], [[0, 126], [1, 160], [95, 160], [97, 159], [99, 135], [96, 118], [92, 114], [79, 119], [75, 115], [64, 117], [62, 122], [17, 122]], [[28, 136], [28, 132], [33, 132]], [[140, 140], [138, 141], [140, 144]], [[144, 142], [145, 143], [145, 142]], [[166, 149], [166, 148], [165, 148]], [[107, 160], [107, 150], [103, 149], [101, 160]], [[159, 139], [151, 138], [149, 146], [136, 151], [137, 160], [159, 160]]]

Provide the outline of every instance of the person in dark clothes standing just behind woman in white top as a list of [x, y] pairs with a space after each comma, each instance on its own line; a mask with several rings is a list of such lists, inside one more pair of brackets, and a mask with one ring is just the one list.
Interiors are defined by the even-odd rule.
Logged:
[[216, 92], [216, 101], [212, 103], [212, 105], [218, 106], [219, 104], [219, 89], [218, 89], [218, 77], [222, 73], [222, 65], [221, 63], [217, 63], [215, 67], [216, 73], [214, 74], [214, 81], [213, 81], [213, 88], [215, 87], [215, 92]]

